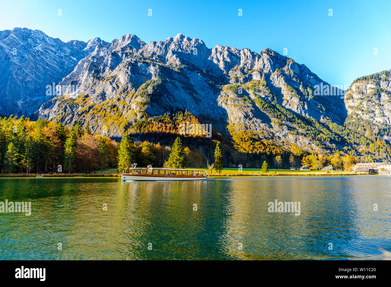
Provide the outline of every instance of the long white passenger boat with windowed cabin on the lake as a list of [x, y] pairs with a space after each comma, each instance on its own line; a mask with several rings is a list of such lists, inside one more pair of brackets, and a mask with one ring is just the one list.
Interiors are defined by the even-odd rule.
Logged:
[[205, 170], [179, 168], [136, 168], [132, 165], [129, 174], [121, 174], [122, 181], [194, 181], [205, 180]]

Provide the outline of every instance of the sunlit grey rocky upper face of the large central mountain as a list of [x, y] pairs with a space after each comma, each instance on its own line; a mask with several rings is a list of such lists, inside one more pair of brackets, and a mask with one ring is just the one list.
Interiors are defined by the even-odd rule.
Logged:
[[[219, 45], [209, 49], [182, 34], [146, 44], [125, 35], [96, 44], [61, 81], [65, 93], [37, 114], [66, 124], [89, 119], [93, 129], [106, 126], [111, 136], [120, 136], [144, 116], [187, 109], [221, 130], [239, 121], [246, 129], [273, 133], [270, 120], [254, 104], [229, 103], [247, 95], [275, 98], [295, 113], [343, 123], [343, 100], [314, 94], [314, 86], [321, 83], [327, 84], [306, 66], [270, 49], [260, 54]], [[72, 93], [72, 85], [77, 92]], [[232, 92], [231, 85], [240, 91]]]

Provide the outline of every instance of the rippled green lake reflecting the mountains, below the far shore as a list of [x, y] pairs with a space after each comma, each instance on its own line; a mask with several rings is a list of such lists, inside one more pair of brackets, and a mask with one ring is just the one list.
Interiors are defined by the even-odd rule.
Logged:
[[1, 178], [0, 202], [31, 214], [0, 213], [0, 259], [383, 259], [390, 191], [380, 175]]

